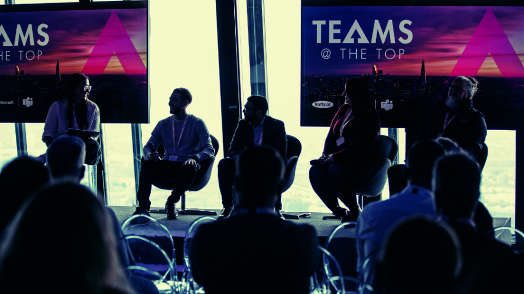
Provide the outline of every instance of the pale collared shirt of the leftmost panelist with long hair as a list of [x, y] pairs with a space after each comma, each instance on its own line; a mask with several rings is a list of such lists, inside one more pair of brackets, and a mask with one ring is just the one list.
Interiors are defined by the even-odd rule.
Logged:
[[[44, 137], [56, 139], [65, 134], [69, 129], [67, 115], [68, 101], [54, 101], [49, 108], [46, 124], [43, 126], [42, 141]], [[100, 132], [100, 109], [91, 100], [87, 101], [88, 108], [88, 131]], [[96, 138], [95, 138], [96, 139]]]

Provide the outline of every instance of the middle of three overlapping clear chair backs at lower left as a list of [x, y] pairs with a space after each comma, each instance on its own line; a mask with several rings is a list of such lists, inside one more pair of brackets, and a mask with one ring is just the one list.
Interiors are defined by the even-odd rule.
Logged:
[[155, 242], [142, 236], [128, 235], [126, 242], [133, 256], [134, 264], [127, 269], [134, 275], [147, 278], [154, 282], [157, 288], [168, 288], [176, 293], [179, 287], [175, 264], [165, 251]]

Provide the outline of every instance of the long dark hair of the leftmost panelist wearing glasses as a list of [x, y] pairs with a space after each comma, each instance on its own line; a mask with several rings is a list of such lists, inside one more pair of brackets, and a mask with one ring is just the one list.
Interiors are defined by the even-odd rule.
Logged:
[[[78, 87], [80, 82], [83, 80], [89, 80], [89, 77], [84, 74], [74, 73], [72, 74], [69, 79], [67, 80], [67, 83], [65, 84], [65, 87], [62, 91], [62, 94], [58, 98], [60, 101], [68, 102], [67, 105], [67, 118], [68, 118], [68, 128], [73, 128], [73, 110], [74, 110], [74, 100], [75, 100], [75, 89]], [[88, 93], [88, 100], [89, 100], [89, 93]], [[77, 113], [78, 112], [78, 113]], [[82, 101], [79, 105], [79, 111], [75, 112], [75, 116], [77, 117], [78, 126], [82, 130], [88, 129], [88, 106], [87, 106], [87, 100]]]

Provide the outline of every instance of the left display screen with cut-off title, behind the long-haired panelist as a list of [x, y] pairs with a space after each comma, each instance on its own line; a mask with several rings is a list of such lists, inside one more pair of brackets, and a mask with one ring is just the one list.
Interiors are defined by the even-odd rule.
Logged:
[[148, 2], [0, 6], [0, 122], [44, 122], [68, 77], [104, 123], [148, 123]]

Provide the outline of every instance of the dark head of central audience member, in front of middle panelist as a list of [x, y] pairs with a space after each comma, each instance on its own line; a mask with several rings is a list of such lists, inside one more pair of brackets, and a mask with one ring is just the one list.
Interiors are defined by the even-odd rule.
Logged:
[[284, 162], [269, 146], [254, 146], [240, 154], [236, 161], [235, 187], [239, 196], [235, 206], [275, 207], [282, 186]]

